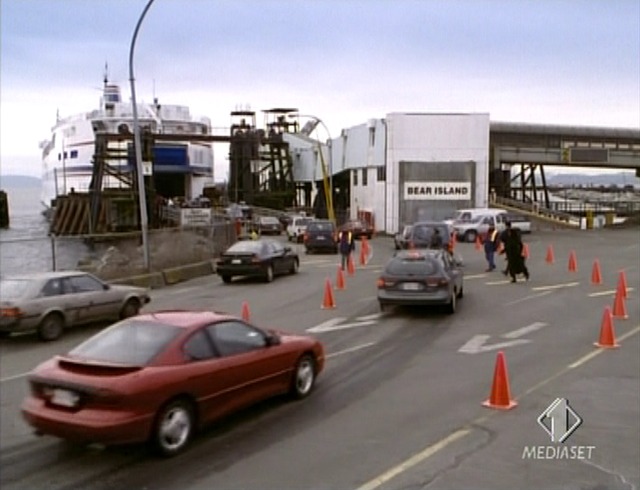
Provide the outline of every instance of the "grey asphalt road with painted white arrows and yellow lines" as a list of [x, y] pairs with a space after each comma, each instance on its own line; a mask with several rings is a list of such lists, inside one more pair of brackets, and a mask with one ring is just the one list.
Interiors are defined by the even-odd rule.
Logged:
[[[458, 244], [465, 297], [455, 315], [419, 308], [379, 312], [375, 281], [392, 241], [374, 238], [366, 266], [323, 309], [338, 257], [301, 253], [300, 273], [271, 284], [217, 276], [157, 290], [147, 311], [249, 304], [263, 327], [311, 332], [328, 361], [315, 393], [275, 399], [221, 421], [182, 455], [144, 447], [77, 447], [37, 438], [22, 422], [25, 373], [100, 326], [50, 344], [33, 336], [0, 344], [0, 486], [13, 489], [631, 489], [640, 487], [640, 234], [544, 231], [525, 236], [531, 280], [483, 272], [483, 254]], [[553, 248], [555, 262], [545, 257]], [[302, 250], [302, 249], [301, 249]], [[568, 270], [571, 251], [577, 271]], [[591, 284], [599, 261], [603, 284]], [[502, 265], [502, 259], [498, 260]], [[620, 347], [599, 349], [604, 309], [620, 271], [627, 319]], [[512, 410], [485, 408], [504, 353]], [[562, 443], [538, 418], [556, 399], [582, 422]], [[564, 407], [565, 405], [561, 405]], [[558, 412], [554, 412], [558, 413]], [[562, 412], [566, 415], [566, 410]], [[543, 419], [550, 427], [550, 419]], [[558, 433], [560, 429], [558, 429]], [[550, 448], [550, 449], [549, 449]], [[589, 449], [591, 448], [591, 449]], [[562, 456], [564, 451], [564, 455]], [[576, 459], [567, 457], [573, 451]], [[535, 457], [534, 457], [535, 456]], [[581, 456], [581, 459], [577, 459]]]

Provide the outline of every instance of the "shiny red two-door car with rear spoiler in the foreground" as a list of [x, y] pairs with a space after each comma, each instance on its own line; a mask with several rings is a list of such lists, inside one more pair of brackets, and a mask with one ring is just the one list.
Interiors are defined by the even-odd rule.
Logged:
[[304, 398], [324, 366], [317, 340], [208, 311], [118, 322], [29, 376], [22, 414], [38, 434], [81, 443], [150, 441], [160, 454], [259, 400]]

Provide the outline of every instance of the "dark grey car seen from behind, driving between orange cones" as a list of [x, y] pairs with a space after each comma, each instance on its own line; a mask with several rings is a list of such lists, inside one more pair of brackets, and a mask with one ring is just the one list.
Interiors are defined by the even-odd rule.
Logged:
[[402, 250], [386, 264], [378, 279], [378, 303], [446, 305], [455, 313], [464, 294], [462, 262], [445, 250]]

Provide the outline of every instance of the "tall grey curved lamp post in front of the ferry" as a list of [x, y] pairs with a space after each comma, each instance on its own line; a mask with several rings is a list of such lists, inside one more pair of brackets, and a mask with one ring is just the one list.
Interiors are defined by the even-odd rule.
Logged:
[[149, 217], [147, 216], [147, 197], [144, 187], [144, 171], [142, 168], [142, 148], [140, 147], [140, 125], [138, 124], [138, 106], [136, 103], [136, 84], [133, 77], [133, 50], [136, 45], [136, 38], [144, 16], [155, 0], [149, 0], [145, 6], [136, 28], [131, 38], [131, 48], [129, 49], [129, 82], [131, 83], [131, 104], [133, 106], [133, 144], [136, 152], [136, 173], [138, 174], [138, 202], [140, 206], [140, 229], [142, 231], [142, 248], [144, 254], [144, 268], [149, 270]]

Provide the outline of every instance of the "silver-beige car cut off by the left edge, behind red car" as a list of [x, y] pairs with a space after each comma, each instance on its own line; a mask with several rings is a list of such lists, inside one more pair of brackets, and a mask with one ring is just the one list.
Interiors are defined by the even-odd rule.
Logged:
[[0, 333], [35, 330], [45, 341], [64, 329], [137, 315], [145, 288], [107, 284], [82, 271], [20, 274], [0, 279]]

